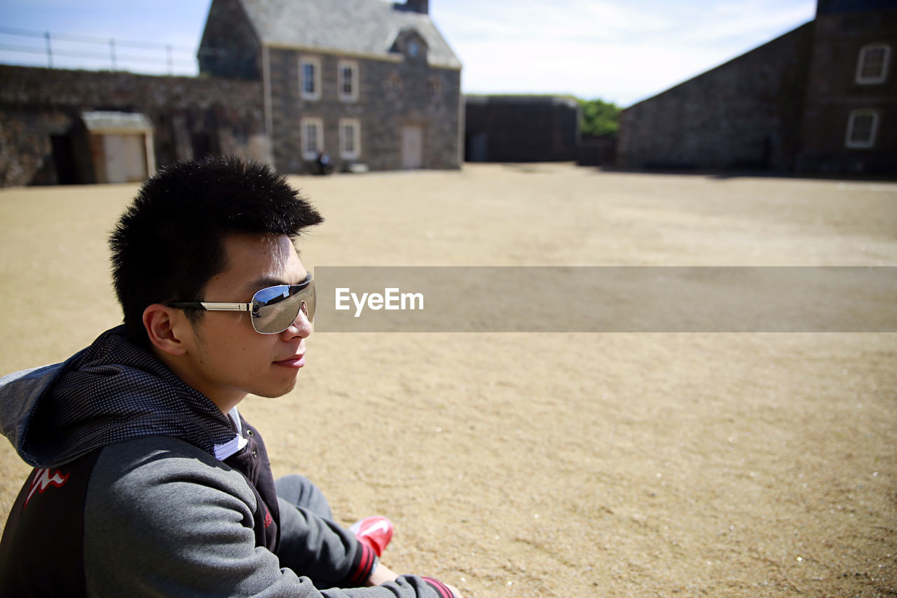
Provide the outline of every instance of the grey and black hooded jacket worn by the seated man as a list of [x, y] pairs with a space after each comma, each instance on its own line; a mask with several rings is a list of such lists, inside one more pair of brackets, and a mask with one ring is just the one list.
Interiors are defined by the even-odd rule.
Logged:
[[[0, 432], [35, 468], [0, 541], [0, 595], [451, 597], [417, 576], [358, 587], [373, 551], [279, 499], [236, 417], [124, 327], [0, 379]], [[284, 538], [307, 548], [279, 555]]]

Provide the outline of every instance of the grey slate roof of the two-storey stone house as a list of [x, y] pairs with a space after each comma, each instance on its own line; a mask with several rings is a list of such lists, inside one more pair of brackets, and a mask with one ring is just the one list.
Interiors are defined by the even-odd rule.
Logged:
[[414, 29], [431, 66], [461, 62], [428, 14], [383, 0], [239, 0], [262, 45], [389, 57], [396, 36]]

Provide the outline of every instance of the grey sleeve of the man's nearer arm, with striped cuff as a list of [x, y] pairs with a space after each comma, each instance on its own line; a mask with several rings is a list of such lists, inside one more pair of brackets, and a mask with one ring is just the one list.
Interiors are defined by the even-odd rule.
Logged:
[[87, 594], [448, 598], [439, 582], [416, 576], [319, 591], [256, 546], [255, 506], [238, 471], [190, 444], [154, 437], [107, 446], [84, 503]]

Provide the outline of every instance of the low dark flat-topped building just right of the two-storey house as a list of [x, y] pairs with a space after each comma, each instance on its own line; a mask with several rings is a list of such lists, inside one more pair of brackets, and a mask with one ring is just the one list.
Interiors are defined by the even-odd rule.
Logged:
[[567, 162], [577, 158], [579, 106], [571, 98], [470, 95], [465, 98], [468, 162]]

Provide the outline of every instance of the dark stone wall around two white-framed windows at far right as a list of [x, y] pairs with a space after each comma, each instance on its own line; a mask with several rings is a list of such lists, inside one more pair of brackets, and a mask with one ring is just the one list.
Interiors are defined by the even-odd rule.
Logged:
[[[891, 46], [889, 73], [881, 84], [858, 84], [860, 48]], [[897, 173], [897, 10], [822, 14], [806, 93], [806, 120], [798, 170], [823, 173]], [[875, 110], [875, 146], [848, 148], [851, 110]]]

